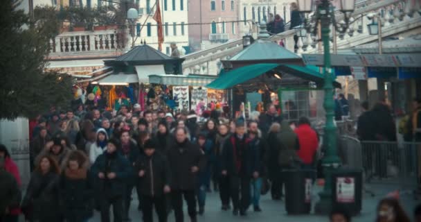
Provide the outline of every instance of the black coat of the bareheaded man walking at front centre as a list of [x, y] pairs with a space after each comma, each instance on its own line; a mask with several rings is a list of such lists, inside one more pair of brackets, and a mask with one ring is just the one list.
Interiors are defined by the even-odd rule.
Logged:
[[171, 189], [195, 189], [198, 172], [192, 173], [192, 167], [199, 167], [199, 171], [205, 167], [204, 153], [199, 146], [188, 139], [181, 144], [176, 142], [168, 150], [167, 157], [171, 169]]

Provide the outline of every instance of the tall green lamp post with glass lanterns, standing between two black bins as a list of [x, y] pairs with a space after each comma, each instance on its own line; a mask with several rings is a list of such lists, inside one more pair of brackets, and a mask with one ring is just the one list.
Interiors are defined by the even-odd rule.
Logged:
[[330, 70], [330, 25], [335, 27], [339, 33], [346, 33], [350, 24], [350, 14], [354, 11], [355, 0], [341, 0], [339, 10], [343, 12], [343, 23], [336, 22], [334, 7], [330, 0], [297, 0], [298, 10], [305, 13], [314, 11], [314, 14], [304, 20], [304, 28], [308, 33], [316, 35], [321, 24], [321, 40], [323, 42], [324, 67], [323, 75], [325, 78], [323, 89], [325, 98], [323, 107], [326, 112], [325, 134], [323, 137], [325, 155], [322, 160], [323, 171], [325, 174], [325, 186], [319, 194], [320, 201], [316, 203], [314, 211], [316, 214], [328, 214], [332, 210], [332, 172], [341, 165], [341, 160], [337, 155], [337, 128], [334, 125], [334, 99], [333, 85], [334, 74]]

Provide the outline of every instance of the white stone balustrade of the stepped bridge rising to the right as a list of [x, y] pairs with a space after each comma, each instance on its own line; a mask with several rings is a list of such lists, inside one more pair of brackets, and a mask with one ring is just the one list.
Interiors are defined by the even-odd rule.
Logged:
[[[369, 13], [383, 12], [382, 17], [384, 21], [384, 36], [393, 35], [399, 31], [404, 31], [402, 28], [419, 26], [419, 15], [415, 12], [415, 8], [411, 8], [407, 1], [401, 0], [366, 0], [359, 1], [355, 5], [355, 11], [352, 13], [352, 26], [348, 28], [346, 35], [337, 35], [337, 47], [349, 47], [355, 46], [356, 44], [365, 44], [367, 42], [373, 42], [377, 38], [376, 35], [368, 35], [367, 24], [371, 23], [368, 21], [366, 15]], [[384, 13], [388, 11], [389, 13]], [[342, 12], [335, 12], [335, 18], [337, 22], [343, 20]], [[389, 28], [390, 26], [390, 28]], [[398, 26], [399, 28], [397, 28]], [[282, 44], [289, 50], [294, 51], [294, 30], [288, 30], [278, 35], [271, 36], [271, 40]], [[319, 37], [307, 34], [307, 37], [301, 37], [298, 39], [298, 49], [296, 53], [315, 53], [318, 51], [318, 40]], [[331, 45], [333, 47], [333, 44]], [[190, 53], [183, 56], [185, 62], [183, 62], [183, 73], [194, 73], [194, 74], [216, 74], [210, 70], [209, 67], [218, 67], [220, 60], [229, 58], [235, 53], [242, 50], [242, 39], [232, 40], [221, 44], [219, 46], [211, 47], [195, 53]], [[211, 64], [210, 63], [215, 63]]]

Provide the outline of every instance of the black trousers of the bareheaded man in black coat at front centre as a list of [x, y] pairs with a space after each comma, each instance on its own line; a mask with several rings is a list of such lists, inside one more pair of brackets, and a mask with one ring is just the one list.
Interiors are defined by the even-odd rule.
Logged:
[[173, 190], [171, 191], [171, 203], [174, 210], [176, 222], [183, 222], [183, 196], [187, 202], [188, 216], [191, 219], [196, 219], [196, 195], [195, 190]]

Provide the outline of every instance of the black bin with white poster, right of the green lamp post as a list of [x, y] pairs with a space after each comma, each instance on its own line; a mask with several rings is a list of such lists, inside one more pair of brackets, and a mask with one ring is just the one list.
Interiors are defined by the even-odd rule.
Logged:
[[332, 173], [332, 203], [352, 215], [361, 212], [362, 169], [342, 169]]

